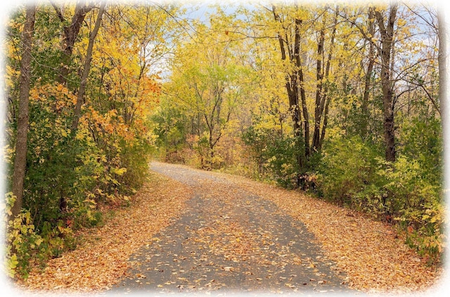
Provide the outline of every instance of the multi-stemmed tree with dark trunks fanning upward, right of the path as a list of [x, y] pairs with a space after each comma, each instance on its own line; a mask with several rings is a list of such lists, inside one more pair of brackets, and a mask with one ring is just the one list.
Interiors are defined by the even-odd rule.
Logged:
[[[283, 8], [283, 16], [278, 11], [281, 11], [281, 8], [272, 6], [271, 13], [277, 23], [281, 60], [286, 61], [285, 87], [292, 110], [294, 137], [302, 136], [304, 144], [304, 153], [297, 158], [300, 168], [304, 170], [311, 154], [321, 151], [326, 136], [331, 100], [328, 90], [329, 86], [333, 84], [329, 78], [333, 75], [334, 70], [332, 64], [333, 52], [336, 50], [335, 37], [338, 30], [339, 8], [335, 7], [331, 21], [328, 18], [330, 11], [328, 6], [316, 11], [309, 11], [307, 8], [298, 6]], [[309, 20], [311, 18], [314, 18], [314, 21]], [[316, 25], [317, 23], [320, 25]], [[307, 37], [307, 32], [317, 37], [315, 52], [309, 47], [312, 40]], [[311, 73], [304, 64], [311, 60], [314, 60], [316, 64], [314, 75], [316, 83], [314, 85], [307, 82], [305, 78], [305, 75], [309, 77]], [[307, 94], [313, 89], [315, 94], [314, 116], [311, 117], [309, 111], [311, 105]], [[300, 126], [300, 122], [303, 122], [303, 126]], [[310, 122], [313, 124], [312, 135]]]

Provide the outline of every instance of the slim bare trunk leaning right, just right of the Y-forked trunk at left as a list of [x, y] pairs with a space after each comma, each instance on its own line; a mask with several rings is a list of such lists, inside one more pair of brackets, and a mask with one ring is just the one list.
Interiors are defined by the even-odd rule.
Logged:
[[84, 93], [86, 92], [86, 84], [87, 77], [89, 76], [89, 70], [91, 69], [91, 61], [92, 61], [92, 50], [94, 49], [94, 42], [98, 33], [98, 29], [101, 25], [101, 18], [103, 16], [103, 12], [105, 11], [106, 3], [103, 2], [100, 6], [100, 10], [98, 11], [96, 24], [94, 25], [94, 30], [92, 30], [91, 34], [89, 34], [89, 44], [87, 46], [86, 51], [86, 60], [84, 61], [84, 70], [82, 74], [82, 80], [79, 84], [79, 90], [77, 95], [77, 103], [75, 104], [74, 117], [72, 120], [72, 131], [75, 132], [78, 129], [79, 117], [82, 113], [82, 104], [84, 101]]

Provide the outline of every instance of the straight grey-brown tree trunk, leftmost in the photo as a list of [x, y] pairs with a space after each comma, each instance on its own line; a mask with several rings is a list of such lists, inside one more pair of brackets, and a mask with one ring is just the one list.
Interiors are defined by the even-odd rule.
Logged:
[[17, 140], [15, 143], [15, 159], [13, 170], [13, 194], [15, 203], [11, 209], [11, 217], [16, 217], [23, 206], [23, 183], [27, 168], [27, 134], [30, 102], [30, 77], [32, 59], [32, 39], [34, 33], [34, 20], [36, 6], [28, 6], [25, 15], [25, 27], [23, 28], [22, 44], [23, 53], [20, 61], [20, 92]]

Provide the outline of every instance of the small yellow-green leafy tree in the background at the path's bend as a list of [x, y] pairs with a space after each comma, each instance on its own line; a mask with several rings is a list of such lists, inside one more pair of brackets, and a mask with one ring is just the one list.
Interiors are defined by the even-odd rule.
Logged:
[[227, 40], [229, 32], [218, 25], [223, 20], [212, 20], [210, 28], [195, 27], [195, 42], [179, 45], [179, 59], [174, 61], [165, 86], [165, 92], [195, 123], [200, 163], [208, 169], [218, 157], [215, 148], [238, 111], [248, 81], [236, 58], [236, 44]]

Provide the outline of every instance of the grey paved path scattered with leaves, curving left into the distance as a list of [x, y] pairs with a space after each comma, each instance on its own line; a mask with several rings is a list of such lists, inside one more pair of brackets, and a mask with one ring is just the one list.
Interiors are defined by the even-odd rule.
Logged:
[[314, 236], [274, 203], [211, 172], [165, 163], [151, 170], [188, 184], [195, 196], [184, 215], [131, 256], [131, 270], [110, 292], [349, 291]]

